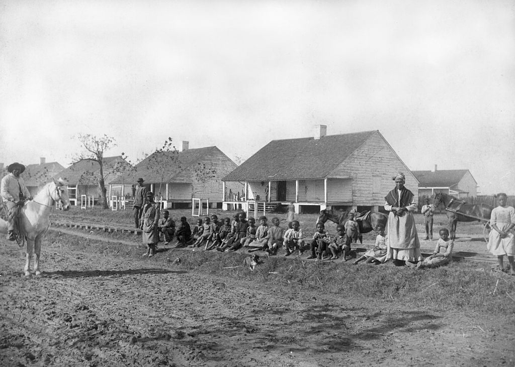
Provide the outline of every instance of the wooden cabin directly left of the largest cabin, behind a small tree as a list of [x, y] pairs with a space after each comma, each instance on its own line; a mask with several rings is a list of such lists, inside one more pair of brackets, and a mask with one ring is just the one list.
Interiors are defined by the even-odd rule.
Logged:
[[[141, 177], [162, 208], [190, 208], [192, 198], [209, 199], [210, 207], [221, 208], [221, 178], [236, 167], [237, 164], [216, 146], [189, 149], [189, 143], [184, 141], [181, 152], [152, 153], [136, 164], [134, 171], [110, 181], [110, 192], [111, 196], [118, 193], [126, 198], [131, 186]], [[202, 171], [208, 173], [204, 179], [199, 177]], [[243, 188], [243, 183], [238, 182], [228, 186], [235, 192], [243, 192]]]

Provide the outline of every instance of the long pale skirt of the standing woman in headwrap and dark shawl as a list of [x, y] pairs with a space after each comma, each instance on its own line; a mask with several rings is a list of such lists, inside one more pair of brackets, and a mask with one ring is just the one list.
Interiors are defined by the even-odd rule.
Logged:
[[406, 212], [403, 216], [397, 216], [390, 212], [387, 227], [387, 259], [410, 262], [423, 259], [413, 214]]

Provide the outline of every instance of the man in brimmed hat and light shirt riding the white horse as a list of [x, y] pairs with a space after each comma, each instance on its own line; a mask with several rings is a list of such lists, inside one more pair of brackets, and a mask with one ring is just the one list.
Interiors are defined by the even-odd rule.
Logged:
[[9, 241], [16, 240], [14, 233], [14, 222], [18, 220], [20, 209], [26, 200], [32, 200], [30, 192], [25, 186], [25, 181], [20, 175], [25, 171], [25, 166], [21, 163], [14, 162], [7, 167], [8, 175], [2, 178], [0, 184], [0, 196], [4, 201], [7, 211], [7, 221], [9, 223], [7, 238]]

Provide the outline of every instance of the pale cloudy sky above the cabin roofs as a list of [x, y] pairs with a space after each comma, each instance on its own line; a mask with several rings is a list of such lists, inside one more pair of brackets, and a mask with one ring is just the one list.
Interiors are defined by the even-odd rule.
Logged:
[[67, 167], [78, 134], [239, 162], [325, 124], [515, 194], [514, 60], [511, 1], [0, 0], [0, 162]]

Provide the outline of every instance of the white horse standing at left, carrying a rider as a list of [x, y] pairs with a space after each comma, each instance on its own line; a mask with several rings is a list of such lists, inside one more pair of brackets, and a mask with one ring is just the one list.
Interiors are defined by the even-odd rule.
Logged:
[[[37, 276], [41, 274], [39, 269], [39, 255], [41, 253], [41, 242], [43, 235], [50, 226], [50, 211], [55, 207], [56, 201], [62, 205], [63, 210], [70, 209], [68, 190], [64, 183], [54, 179], [46, 184], [36, 197], [27, 201], [23, 206], [19, 223], [19, 236], [27, 238], [27, 259], [25, 262], [25, 276], [30, 276], [30, 260], [32, 254], [36, 253], [34, 259], [34, 271]], [[8, 223], [0, 219], [0, 233], [7, 234]]]

